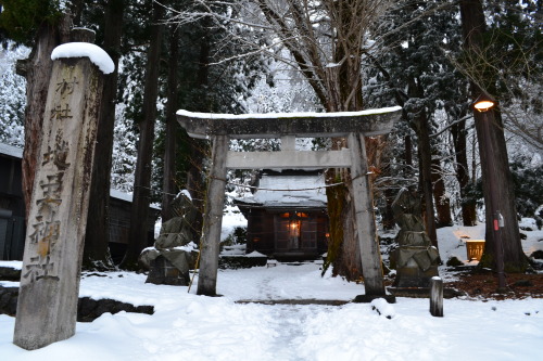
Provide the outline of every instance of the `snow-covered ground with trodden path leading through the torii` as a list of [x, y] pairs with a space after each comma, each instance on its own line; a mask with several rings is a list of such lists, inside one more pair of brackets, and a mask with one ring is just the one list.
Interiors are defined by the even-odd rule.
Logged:
[[[481, 237], [483, 227], [440, 230], [442, 258], [465, 259], [462, 235]], [[523, 242], [543, 249], [542, 231]], [[4, 263], [5, 265], [5, 263]], [[20, 267], [17, 263], [10, 263]], [[543, 299], [445, 299], [444, 317], [428, 299], [397, 298], [386, 314], [369, 304], [262, 305], [239, 300], [352, 300], [364, 286], [326, 274], [319, 262], [222, 270], [217, 292], [146, 284], [146, 275], [108, 273], [81, 280], [80, 296], [153, 305], [153, 315], [105, 313], [77, 323], [74, 337], [35, 351], [12, 344], [14, 318], [0, 315], [1, 360], [539, 360]], [[1, 282], [9, 285], [13, 283]], [[382, 307], [382, 306], [378, 306]]]

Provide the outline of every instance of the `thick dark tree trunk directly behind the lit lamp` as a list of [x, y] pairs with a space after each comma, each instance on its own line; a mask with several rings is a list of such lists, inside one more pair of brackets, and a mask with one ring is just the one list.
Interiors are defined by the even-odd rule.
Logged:
[[[470, 53], [471, 56], [477, 56], [478, 50], [483, 44], [482, 36], [485, 31], [482, 2], [480, 0], [462, 0], [460, 18], [465, 51]], [[483, 74], [488, 77], [484, 80], [490, 80], [491, 83], [494, 82], [495, 76], [492, 70], [483, 70]], [[475, 81], [471, 81], [470, 88], [473, 100], [485, 91]], [[500, 233], [501, 242], [498, 242], [503, 248], [505, 271], [523, 272], [528, 267], [528, 259], [520, 244], [515, 193], [508, 166], [502, 118], [495, 108], [491, 108], [485, 113], [475, 111], [473, 116], [479, 154], [481, 155], [484, 207], [487, 210], [487, 244], [479, 266], [497, 269], [496, 253], [500, 250], [496, 250], [496, 241], [498, 241], [496, 235]], [[505, 227], [501, 228], [498, 232], [493, 231], [494, 215], [492, 212], [496, 209], [505, 219]]]

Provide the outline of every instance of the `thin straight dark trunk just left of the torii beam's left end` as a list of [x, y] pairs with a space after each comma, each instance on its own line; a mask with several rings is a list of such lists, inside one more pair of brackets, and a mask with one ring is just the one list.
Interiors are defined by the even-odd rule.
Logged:
[[166, 132], [164, 146], [164, 179], [162, 186], [162, 221], [165, 222], [175, 217], [172, 209], [172, 201], [175, 198], [175, 158], [176, 158], [176, 118], [177, 112], [177, 65], [179, 44], [176, 26], [169, 28], [169, 61], [168, 61], [168, 93], [166, 103]]

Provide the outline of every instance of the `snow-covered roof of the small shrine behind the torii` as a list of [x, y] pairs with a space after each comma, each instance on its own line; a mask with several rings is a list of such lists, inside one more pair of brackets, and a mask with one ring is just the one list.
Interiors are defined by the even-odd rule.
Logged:
[[263, 175], [257, 191], [236, 201], [244, 205], [269, 208], [326, 207], [326, 190], [323, 175]]

